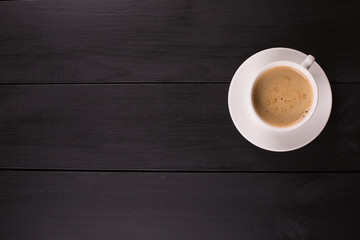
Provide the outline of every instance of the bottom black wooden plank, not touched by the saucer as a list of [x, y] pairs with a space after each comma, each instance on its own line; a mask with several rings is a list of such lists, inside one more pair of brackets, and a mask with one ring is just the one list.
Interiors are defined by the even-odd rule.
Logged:
[[2, 239], [359, 239], [359, 174], [0, 172]]

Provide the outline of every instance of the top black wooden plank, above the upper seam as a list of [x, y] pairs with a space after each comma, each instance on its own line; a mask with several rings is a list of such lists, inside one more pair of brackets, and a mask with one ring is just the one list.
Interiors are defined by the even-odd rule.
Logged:
[[0, 83], [229, 82], [270, 47], [359, 83], [359, 1], [0, 1]]

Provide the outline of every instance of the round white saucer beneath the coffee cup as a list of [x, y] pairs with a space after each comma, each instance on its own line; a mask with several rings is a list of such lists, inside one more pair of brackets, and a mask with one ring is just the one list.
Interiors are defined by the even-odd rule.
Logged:
[[270, 48], [249, 57], [236, 71], [229, 88], [229, 111], [236, 128], [252, 144], [269, 151], [291, 151], [310, 143], [324, 129], [331, 112], [332, 94], [326, 74], [316, 62], [309, 71], [318, 86], [318, 104], [303, 125], [291, 131], [273, 131], [258, 124], [250, 111], [247, 98], [251, 91], [250, 80], [262, 67], [282, 60], [300, 64], [306, 56], [290, 48]]

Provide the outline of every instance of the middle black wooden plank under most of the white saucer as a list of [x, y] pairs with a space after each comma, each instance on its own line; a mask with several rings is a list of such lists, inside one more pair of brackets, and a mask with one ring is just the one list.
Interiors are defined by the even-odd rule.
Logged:
[[289, 153], [235, 129], [228, 84], [0, 87], [0, 168], [358, 171], [360, 85], [335, 84], [323, 133]]

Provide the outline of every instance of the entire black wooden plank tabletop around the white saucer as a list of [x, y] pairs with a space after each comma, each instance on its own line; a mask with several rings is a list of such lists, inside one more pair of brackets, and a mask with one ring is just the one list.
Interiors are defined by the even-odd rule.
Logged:
[[[360, 2], [0, 1], [0, 239], [359, 239]], [[333, 110], [288, 153], [227, 91], [270, 47], [316, 57]]]

